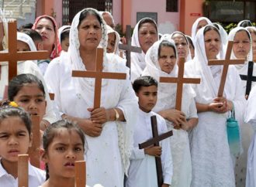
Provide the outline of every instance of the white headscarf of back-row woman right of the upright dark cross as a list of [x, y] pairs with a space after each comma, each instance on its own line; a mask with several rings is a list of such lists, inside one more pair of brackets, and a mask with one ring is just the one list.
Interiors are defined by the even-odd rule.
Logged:
[[[149, 19], [149, 18], [144, 18], [144, 19]], [[140, 25], [140, 22], [143, 21], [144, 19], [140, 19], [140, 21], [137, 22], [136, 26], [133, 29], [132, 46], [140, 47], [139, 25]], [[151, 20], [154, 22], [153, 19], [151, 19]], [[156, 22], [154, 22], [154, 25], [157, 29], [157, 23]], [[158, 36], [158, 30], [157, 30], [157, 36]], [[145, 63], [145, 53], [143, 51], [141, 53], [131, 53], [131, 59], [132, 59], [132, 62], [133, 62], [133, 64], [131, 66], [139, 66], [141, 70], [144, 70], [144, 68], [146, 66], [146, 63]], [[134, 64], [134, 63], [136, 63], [136, 64]]]

